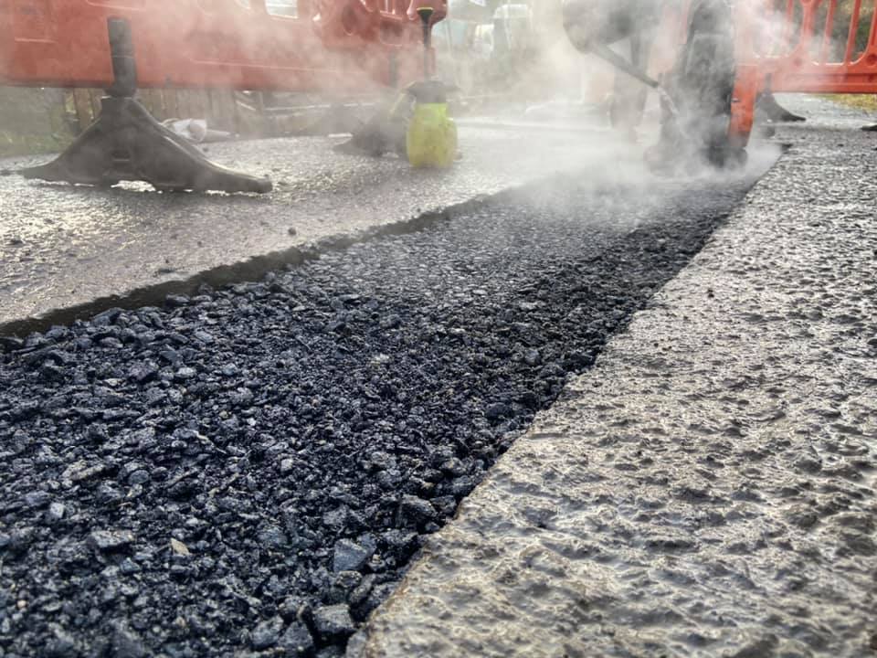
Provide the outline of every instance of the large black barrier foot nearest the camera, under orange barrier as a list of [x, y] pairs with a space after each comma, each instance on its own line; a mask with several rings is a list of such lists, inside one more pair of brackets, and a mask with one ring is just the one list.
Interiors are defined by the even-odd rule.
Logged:
[[210, 162], [194, 145], [157, 122], [133, 98], [101, 99], [100, 116], [49, 164], [20, 171], [26, 178], [112, 186], [145, 181], [158, 190], [270, 192], [267, 178]]

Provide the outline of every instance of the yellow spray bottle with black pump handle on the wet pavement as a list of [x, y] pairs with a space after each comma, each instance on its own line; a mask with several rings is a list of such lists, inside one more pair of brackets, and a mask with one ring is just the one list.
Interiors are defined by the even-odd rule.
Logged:
[[440, 80], [429, 80], [430, 19], [432, 7], [419, 7], [423, 22], [423, 70], [425, 80], [407, 88], [414, 97], [414, 113], [408, 123], [406, 150], [413, 167], [446, 168], [457, 159], [457, 124], [449, 116], [448, 92], [452, 88]]

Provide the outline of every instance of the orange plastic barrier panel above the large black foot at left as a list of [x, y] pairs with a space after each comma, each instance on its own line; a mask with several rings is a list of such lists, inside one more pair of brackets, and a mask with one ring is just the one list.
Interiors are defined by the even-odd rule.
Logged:
[[2, 0], [0, 84], [108, 87], [110, 18], [131, 26], [142, 88], [350, 93], [422, 75], [422, 31], [407, 0], [297, 8], [273, 16], [266, 0]]

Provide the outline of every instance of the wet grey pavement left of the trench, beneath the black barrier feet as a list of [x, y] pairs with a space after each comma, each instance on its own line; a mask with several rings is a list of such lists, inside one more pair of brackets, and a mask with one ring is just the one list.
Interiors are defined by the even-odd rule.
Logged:
[[[0, 176], [0, 326], [442, 211], [570, 171], [611, 137], [481, 126], [462, 128], [460, 142], [463, 159], [440, 173], [412, 170], [396, 157], [335, 154], [338, 140], [328, 138], [207, 147], [220, 164], [269, 175], [275, 190], [266, 196], [166, 195], [140, 184], [99, 190]], [[0, 169], [47, 160], [5, 160]], [[260, 276], [259, 264], [253, 267], [257, 273], [239, 276]]]

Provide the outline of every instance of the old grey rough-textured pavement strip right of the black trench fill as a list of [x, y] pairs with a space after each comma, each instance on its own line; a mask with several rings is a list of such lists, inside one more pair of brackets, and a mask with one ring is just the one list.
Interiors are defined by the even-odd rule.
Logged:
[[430, 538], [355, 655], [877, 652], [877, 139], [782, 137], [793, 150]]

